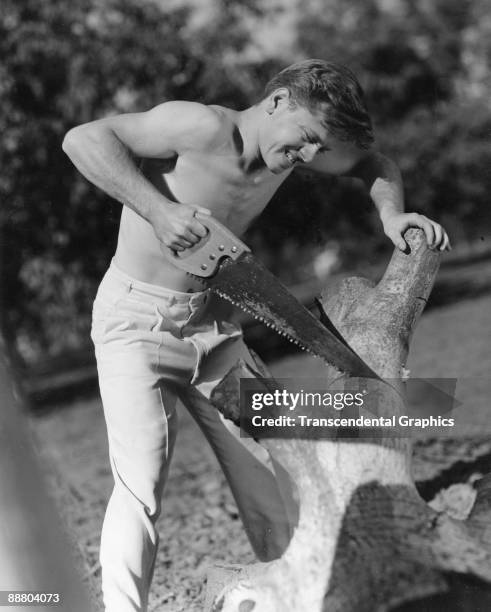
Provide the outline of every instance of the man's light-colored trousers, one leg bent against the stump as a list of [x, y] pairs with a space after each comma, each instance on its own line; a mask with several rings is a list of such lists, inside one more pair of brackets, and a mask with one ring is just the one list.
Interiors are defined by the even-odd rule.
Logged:
[[115, 483], [101, 536], [106, 612], [147, 609], [178, 399], [211, 444], [257, 556], [280, 556], [297, 520], [288, 478], [208, 401], [239, 358], [257, 369], [230, 308], [208, 292], [134, 280], [112, 263], [94, 302], [91, 336]]

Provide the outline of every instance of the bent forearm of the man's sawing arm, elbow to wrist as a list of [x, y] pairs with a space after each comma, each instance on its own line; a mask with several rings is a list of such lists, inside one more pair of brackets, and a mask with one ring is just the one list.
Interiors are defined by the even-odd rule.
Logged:
[[171, 204], [136, 166], [128, 148], [107, 127], [70, 130], [63, 150], [91, 183], [150, 221], [155, 209]]

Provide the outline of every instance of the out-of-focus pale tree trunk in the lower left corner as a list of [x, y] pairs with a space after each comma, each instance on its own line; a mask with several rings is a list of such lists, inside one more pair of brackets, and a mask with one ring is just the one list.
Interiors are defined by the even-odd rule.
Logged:
[[[58, 593], [60, 604], [38, 604], [37, 609], [90, 612], [60, 518], [43, 486], [23, 410], [0, 335], [0, 591]], [[18, 612], [33, 609], [10, 605]]]

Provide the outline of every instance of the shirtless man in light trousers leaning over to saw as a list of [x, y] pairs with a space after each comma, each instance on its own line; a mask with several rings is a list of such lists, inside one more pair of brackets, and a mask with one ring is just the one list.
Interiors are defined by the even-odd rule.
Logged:
[[450, 248], [438, 223], [403, 212], [400, 173], [372, 143], [356, 78], [321, 60], [286, 68], [243, 111], [166, 102], [66, 135], [80, 172], [124, 205], [92, 327], [115, 480], [101, 538], [107, 612], [147, 609], [177, 398], [211, 443], [260, 559], [281, 554], [296, 520], [281, 469], [208, 402], [239, 357], [254, 367], [240, 327], [166, 253], [206, 235], [196, 211], [240, 236], [302, 166], [362, 178], [397, 247], [406, 247], [408, 227], [420, 227], [430, 247]]

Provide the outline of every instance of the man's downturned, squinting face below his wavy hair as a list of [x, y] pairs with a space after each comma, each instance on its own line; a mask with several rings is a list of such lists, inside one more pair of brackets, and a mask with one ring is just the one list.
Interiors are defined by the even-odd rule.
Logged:
[[329, 134], [322, 119], [321, 111], [292, 107], [287, 97], [272, 102], [259, 139], [260, 152], [269, 170], [280, 174], [296, 164], [308, 164], [326, 152], [329, 157], [343, 160], [359, 155], [356, 145]]

